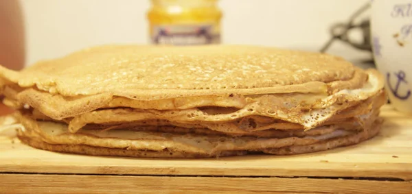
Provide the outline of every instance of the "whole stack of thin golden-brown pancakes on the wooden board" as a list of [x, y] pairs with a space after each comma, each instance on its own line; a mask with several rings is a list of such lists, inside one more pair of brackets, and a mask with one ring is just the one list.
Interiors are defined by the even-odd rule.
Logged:
[[376, 135], [381, 75], [270, 47], [109, 45], [0, 68], [23, 143], [100, 156], [302, 154]]

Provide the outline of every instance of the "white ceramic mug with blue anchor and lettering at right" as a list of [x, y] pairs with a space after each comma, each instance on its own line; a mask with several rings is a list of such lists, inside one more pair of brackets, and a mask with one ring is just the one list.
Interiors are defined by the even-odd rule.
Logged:
[[371, 2], [374, 60], [391, 104], [412, 113], [412, 0]]

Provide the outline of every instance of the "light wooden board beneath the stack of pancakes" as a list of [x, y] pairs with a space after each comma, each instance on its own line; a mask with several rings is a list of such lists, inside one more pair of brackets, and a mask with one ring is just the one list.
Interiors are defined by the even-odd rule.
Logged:
[[0, 134], [0, 193], [412, 193], [412, 116], [378, 136], [298, 156], [139, 159], [58, 154]]

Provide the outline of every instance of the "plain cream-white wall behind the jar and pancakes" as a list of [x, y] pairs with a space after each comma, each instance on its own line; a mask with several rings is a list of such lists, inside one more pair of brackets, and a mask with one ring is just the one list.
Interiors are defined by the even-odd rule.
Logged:
[[[228, 44], [319, 49], [367, 0], [220, 0]], [[110, 43], [148, 43], [149, 0], [21, 0], [27, 64]], [[341, 45], [342, 47], [342, 45]]]

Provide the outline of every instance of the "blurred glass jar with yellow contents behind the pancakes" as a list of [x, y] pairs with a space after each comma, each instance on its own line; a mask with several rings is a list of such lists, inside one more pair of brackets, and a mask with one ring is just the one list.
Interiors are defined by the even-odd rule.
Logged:
[[222, 12], [217, 3], [218, 0], [152, 0], [148, 12], [151, 43], [219, 44]]

